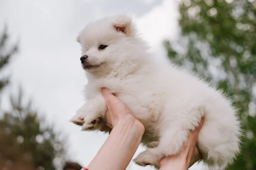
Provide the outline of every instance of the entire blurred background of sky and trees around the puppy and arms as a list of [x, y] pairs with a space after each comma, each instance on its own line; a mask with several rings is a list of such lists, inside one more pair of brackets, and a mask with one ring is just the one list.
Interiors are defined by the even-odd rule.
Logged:
[[[68, 122], [87, 83], [76, 35], [87, 23], [123, 13], [134, 16], [156, 57], [229, 94], [244, 136], [227, 169], [255, 170], [256, 0], [0, 0], [0, 170], [90, 163], [108, 135]], [[131, 162], [127, 169], [153, 168]]]

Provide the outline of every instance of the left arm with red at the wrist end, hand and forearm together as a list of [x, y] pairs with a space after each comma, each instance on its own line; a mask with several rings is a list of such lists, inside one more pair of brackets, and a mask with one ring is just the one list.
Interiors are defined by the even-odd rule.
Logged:
[[[125, 170], [140, 145], [144, 125], [132, 115], [121, 100], [109, 89], [103, 88], [108, 111], [105, 113], [105, 125], [101, 131], [108, 131], [105, 143], [87, 166], [89, 170]], [[114, 158], [114, 159], [113, 159]]]

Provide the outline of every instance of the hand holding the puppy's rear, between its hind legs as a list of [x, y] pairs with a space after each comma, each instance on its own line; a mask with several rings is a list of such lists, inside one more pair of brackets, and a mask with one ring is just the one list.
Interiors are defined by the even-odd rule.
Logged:
[[160, 161], [160, 170], [187, 170], [195, 162], [202, 159], [202, 155], [196, 147], [196, 142], [203, 122], [204, 117], [199, 122], [199, 126], [188, 136], [188, 140], [183, 144], [180, 153], [174, 156], [167, 156]]

